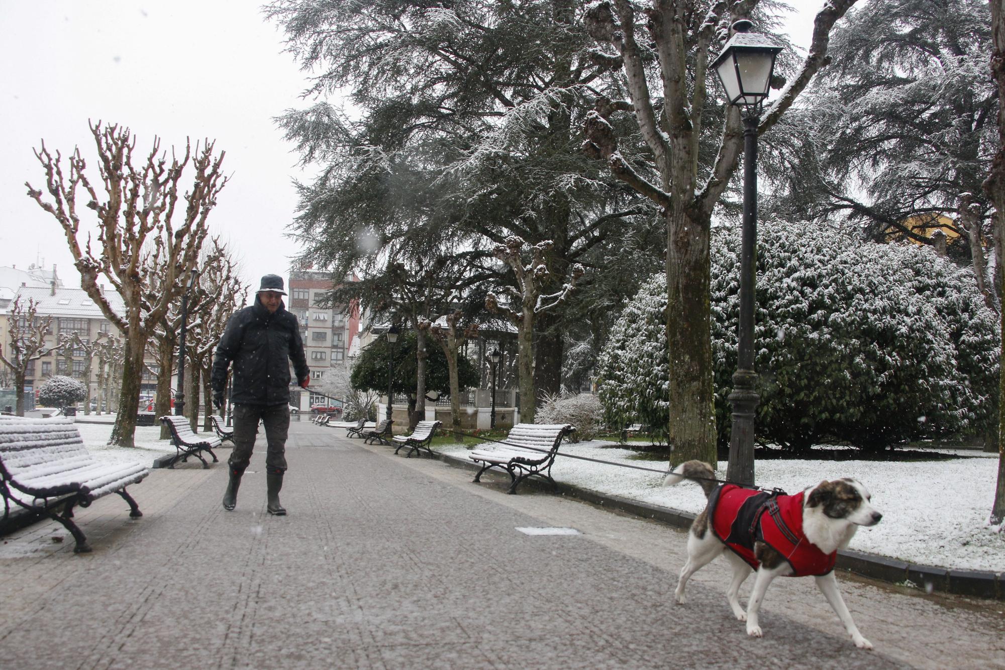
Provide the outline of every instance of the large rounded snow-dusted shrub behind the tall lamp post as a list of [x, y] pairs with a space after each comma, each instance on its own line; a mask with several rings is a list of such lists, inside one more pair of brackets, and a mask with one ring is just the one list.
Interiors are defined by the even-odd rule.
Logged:
[[[713, 354], [721, 444], [737, 365], [739, 235], [712, 248]], [[653, 277], [601, 353], [609, 418], [666, 424], [665, 279]], [[758, 239], [758, 436], [794, 451], [877, 449], [986, 431], [997, 416], [997, 317], [970, 270], [915, 244], [875, 244], [809, 223]]]

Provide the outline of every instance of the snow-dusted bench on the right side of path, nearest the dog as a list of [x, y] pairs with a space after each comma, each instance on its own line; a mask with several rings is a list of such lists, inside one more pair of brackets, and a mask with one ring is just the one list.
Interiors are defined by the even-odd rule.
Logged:
[[512, 480], [507, 493], [517, 493], [517, 486], [535, 475], [547, 479], [558, 490], [558, 485], [551, 475], [552, 464], [559, 452], [562, 438], [575, 430], [569, 424], [514, 426], [506, 440], [476, 449], [467, 455], [475, 463], [483, 464], [481, 470], [474, 476], [474, 481], [481, 481], [481, 473], [486, 470], [500, 468], [510, 473]]

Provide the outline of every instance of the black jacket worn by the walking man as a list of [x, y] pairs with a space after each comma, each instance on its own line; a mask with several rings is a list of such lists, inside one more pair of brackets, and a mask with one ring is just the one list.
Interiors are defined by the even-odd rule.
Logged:
[[236, 312], [216, 345], [212, 386], [222, 393], [227, 385], [227, 366], [234, 363], [235, 404], [282, 404], [289, 402], [289, 363], [293, 361], [297, 383], [311, 370], [304, 355], [296, 317], [279, 303], [269, 314], [255, 296], [254, 305]]

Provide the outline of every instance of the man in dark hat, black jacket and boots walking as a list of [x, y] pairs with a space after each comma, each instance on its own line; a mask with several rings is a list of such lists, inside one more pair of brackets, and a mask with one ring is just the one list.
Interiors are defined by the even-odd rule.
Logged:
[[234, 450], [227, 462], [230, 481], [223, 494], [223, 508], [237, 504], [241, 475], [251, 461], [258, 422], [265, 427], [268, 451], [265, 454], [265, 483], [269, 514], [282, 516], [279, 504], [282, 475], [286, 472], [286, 435], [289, 431], [289, 363], [293, 362], [296, 381], [307, 388], [311, 370], [304, 355], [296, 317], [282, 304], [282, 278], [265, 275], [255, 294], [254, 305], [230, 317], [213, 356], [213, 404], [223, 405], [227, 367], [234, 364], [231, 386], [234, 415]]

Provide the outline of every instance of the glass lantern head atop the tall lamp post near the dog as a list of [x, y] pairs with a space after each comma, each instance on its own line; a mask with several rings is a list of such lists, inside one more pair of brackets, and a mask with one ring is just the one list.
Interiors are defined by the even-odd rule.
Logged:
[[767, 35], [747, 32], [753, 24], [740, 20], [723, 52], [712, 63], [730, 105], [757, 107], [768, 97], [775, 58], [782, 50]]

